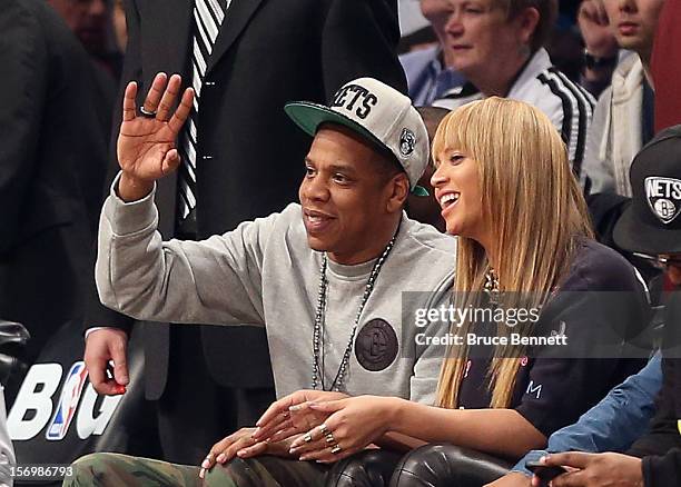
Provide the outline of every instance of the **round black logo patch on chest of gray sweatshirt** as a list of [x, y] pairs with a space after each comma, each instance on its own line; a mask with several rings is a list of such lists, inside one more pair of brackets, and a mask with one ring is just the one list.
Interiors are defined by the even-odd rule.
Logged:
[[397, 357], [397, 335], [385, 320], [373, 319], [355, 339], [355, 356], [362, 367], [373, 372], [386, 369]]

